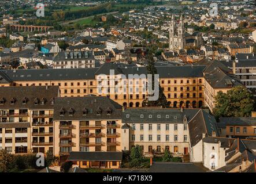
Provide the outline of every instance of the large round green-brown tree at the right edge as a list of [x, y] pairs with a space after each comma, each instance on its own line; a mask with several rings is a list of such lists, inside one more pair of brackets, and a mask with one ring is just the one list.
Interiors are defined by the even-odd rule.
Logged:
[[227, 93], [219, 91], [215, 97], [214, 115], [218, 117], [246, 117], [254, 110], [253, 95], [243, 86], [236, 86]]

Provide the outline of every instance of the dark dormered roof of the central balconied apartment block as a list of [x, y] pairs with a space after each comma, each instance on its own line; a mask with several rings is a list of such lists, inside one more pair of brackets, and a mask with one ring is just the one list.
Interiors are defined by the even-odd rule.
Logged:
[[[98, 110], [101, 114], [97, 114]], [[107, 110], [111, 110], [110, 115]], [[60, 112], [64, 110], [64, 115]], [[69, 116], [69, 111], [73, 115]], [[87, 112], [84, 116], [84, 111]], [[95, 120], [95, 119], [121, 119], [122, 106], [108, 97], [58, 97], [54, 103], [54, 120]]]

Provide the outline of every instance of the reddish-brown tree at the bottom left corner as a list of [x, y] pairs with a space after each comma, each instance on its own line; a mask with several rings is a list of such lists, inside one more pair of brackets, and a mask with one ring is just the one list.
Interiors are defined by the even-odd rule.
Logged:
[[6, 150], [0, 150], [0, 173], [6, 173], [13, 167], [13, 155]]

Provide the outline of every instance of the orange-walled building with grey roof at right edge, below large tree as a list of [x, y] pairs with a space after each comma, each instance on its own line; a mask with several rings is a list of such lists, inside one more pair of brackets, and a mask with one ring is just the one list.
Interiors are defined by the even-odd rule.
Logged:
[[227, 137], [256, 139], [256, 117], [221, 117]]

